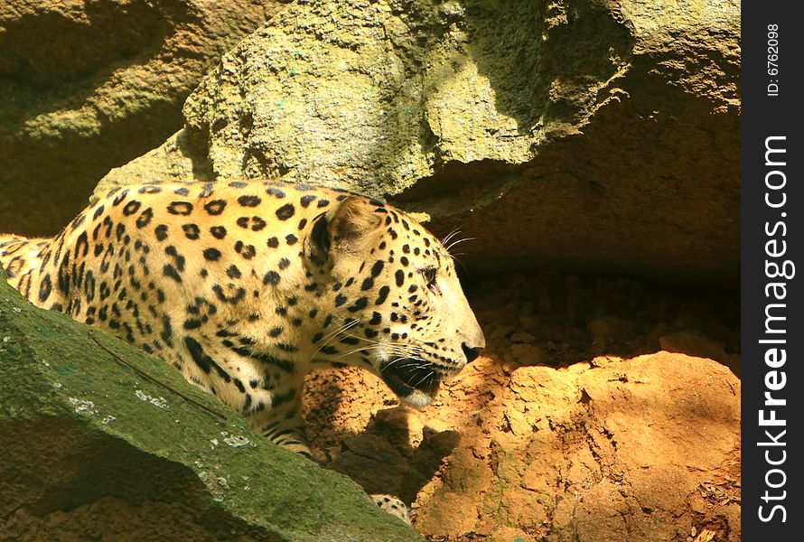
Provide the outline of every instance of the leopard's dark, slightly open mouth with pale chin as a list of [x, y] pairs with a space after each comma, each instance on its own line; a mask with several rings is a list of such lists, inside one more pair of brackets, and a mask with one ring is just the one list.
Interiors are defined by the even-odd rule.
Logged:
[[420, 360], [391, 358], [379, 365], [379, 376], [404, 403], [411, 406], [428, 405], [446, 375], [431, 364]]

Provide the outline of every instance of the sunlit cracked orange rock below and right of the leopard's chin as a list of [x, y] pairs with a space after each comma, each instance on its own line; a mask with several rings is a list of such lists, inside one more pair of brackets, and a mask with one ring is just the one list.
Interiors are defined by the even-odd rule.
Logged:
[[[344, 398], [331, 431], [388, 396], [357, 369], [348, 378], [360, 398]], [[708, 528], [740, 540], [740, 385], [713, 360], [657, 352], [507, 377], [481, 357], [438, 399], [406, 409], [394, 436], [369, 423], [333, 453], [361, 484], [398, 479], [425, 536], [669, 542]], [[453, 430], [423, 462], [427, 426]]]

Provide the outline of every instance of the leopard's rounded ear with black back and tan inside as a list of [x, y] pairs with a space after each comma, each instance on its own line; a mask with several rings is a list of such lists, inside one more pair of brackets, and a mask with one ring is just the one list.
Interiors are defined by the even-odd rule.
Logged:
[[308, 252], [323, 264], [330, 252], [357, 252], [360, 244], [379, 232], [382, 216], [377, 205], [360, 196], [348, 196], [315, 220], [310, 232]]

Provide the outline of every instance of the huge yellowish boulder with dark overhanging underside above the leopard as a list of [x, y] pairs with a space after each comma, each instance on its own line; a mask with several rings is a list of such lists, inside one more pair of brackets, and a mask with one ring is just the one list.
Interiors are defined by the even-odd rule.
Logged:
[[736, 287], [739, 38], [736, 0], [297, 3], [98, 190], [337, 184], [478, 238], [481, 272]]

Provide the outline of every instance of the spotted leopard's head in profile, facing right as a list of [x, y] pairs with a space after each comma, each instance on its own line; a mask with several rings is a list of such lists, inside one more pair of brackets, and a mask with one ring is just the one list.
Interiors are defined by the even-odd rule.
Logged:
[[403, 211], [348, 196], [316, 218], [305, 253], [328, 284], [323, 332], [337, 346], [326, 355], [368, 368], [403, 402], [429, 404], [485, 346], [453, 258]]

